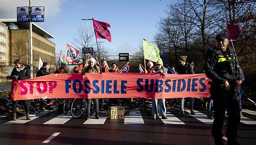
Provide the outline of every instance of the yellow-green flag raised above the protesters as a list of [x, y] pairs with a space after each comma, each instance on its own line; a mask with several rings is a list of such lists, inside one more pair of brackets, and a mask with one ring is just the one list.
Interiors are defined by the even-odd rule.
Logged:
[[146, 42], [144, 39], [142, 40], [142, 42], [144, 59], [157, 62], [160, 58], [160, 54], [156, 44]]

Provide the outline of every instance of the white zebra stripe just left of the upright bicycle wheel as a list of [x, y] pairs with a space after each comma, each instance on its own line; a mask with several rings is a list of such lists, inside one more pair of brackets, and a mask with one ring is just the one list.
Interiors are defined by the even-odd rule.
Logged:
[[64, 124], [72, 118], [71, 113], [62, 113], [61, 115], [52, 118], [51, 120], [44, 122], [43, 124]]

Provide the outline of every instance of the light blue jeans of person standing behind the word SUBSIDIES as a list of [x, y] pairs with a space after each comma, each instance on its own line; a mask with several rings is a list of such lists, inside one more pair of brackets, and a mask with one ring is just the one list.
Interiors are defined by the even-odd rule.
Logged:
[[158, 116], [157, 102], [159, 102], [159, 116], [166, 116], [165, 98], [152, 98], [152, 115]]

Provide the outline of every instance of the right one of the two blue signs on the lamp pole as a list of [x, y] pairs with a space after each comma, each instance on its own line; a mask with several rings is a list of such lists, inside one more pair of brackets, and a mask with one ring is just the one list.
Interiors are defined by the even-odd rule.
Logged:
[[31, 7], [31, 22], [44, 22], [44, 6]]

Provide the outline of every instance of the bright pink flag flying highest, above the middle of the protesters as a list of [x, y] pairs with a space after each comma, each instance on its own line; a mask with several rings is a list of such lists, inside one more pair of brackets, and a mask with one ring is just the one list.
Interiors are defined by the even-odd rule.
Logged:
[[111, 34], [110, 30], [108, 30], [110, 24], [93, 19], [93, 27], [96, 38], [107, 39], [108, 42], [111, 42]]

